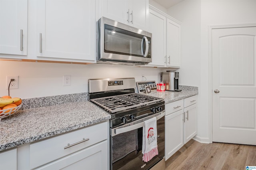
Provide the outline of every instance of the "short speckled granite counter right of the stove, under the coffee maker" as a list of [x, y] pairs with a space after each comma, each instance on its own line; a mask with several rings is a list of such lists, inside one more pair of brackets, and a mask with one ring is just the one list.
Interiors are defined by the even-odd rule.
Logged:
[[198, 87], [193, 86], [179, 86], [179, 89], [182, 91], [176, 92], [176, 91], [153, 91], [152, 93], [149, 93], [148, 95], [153, 97], [159, 97], [163, 98], [165, 104], [178, 101], [180, 99], [184, 99], [186, 97], [194, 96], [198, 94]]

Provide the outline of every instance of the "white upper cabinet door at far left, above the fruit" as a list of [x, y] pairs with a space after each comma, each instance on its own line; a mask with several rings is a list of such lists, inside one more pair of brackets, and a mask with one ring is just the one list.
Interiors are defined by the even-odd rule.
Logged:
[[0, 53], [27, 55], [28, 0], [0, 0]]

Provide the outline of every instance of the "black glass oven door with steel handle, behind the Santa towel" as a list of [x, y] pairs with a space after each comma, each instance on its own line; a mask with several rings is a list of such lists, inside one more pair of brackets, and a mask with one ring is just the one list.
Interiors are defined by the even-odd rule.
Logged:
[[[165, 111], [132, 122], [126, 127], [111, 129], [110, 169], [142, 169], [152, 168], [164, 158], [164, 115]], [[158, 155], [149, 162], [142, 161], [142, 128], [144, 121], [156, 117]], [[131, 124], [131, 123], [130, 123]]]

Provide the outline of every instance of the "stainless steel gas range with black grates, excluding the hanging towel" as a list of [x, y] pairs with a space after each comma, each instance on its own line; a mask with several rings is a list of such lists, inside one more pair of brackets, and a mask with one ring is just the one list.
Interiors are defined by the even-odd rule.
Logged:
[[[164, 99], [135, 93], [134, 78], [89, 79], [88, 100], [111, 114], [110, 169], [164, 166]], [[142, 127], [156, 117], [158, 155], [142, 161]], [[159, 163], [160, 162], [160, 163]]]

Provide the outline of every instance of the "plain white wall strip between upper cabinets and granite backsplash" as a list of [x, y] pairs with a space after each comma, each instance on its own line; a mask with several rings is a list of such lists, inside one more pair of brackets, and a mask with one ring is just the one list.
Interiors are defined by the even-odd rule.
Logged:
[[[109, 64], [63, 64], [23, 61], [0, 61], [0, 96], [8, 95], [6, 76], [19, 76], [18, 89], [10, 96], [28, 99], [88, 92], [88, 79], [134, 77], [143, 81], [160, 81], [160, 73], [171, 69]], [[71, 85], [63, 86], [63, 75], [71, 75]], [[180, 82], [182, 83], [182, 82]]]

